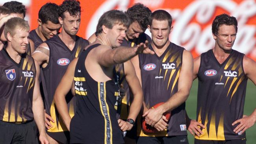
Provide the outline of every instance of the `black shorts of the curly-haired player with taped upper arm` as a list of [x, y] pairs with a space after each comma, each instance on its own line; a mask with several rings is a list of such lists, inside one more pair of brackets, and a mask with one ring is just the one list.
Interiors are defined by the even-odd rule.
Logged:
[[69, 131], [63, 131], [63, 132], [48, 132], [48, 131], [46, 131], [46, 133], [51, 138], [53, 138], [57, 142], [61, 142], [62, 144], [69, 144], [69, 142], [70, 142]]

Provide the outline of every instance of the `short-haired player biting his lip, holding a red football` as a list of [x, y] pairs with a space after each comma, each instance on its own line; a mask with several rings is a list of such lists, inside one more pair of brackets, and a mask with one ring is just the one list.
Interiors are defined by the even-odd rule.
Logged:
[[[139, 54], [132, 62], [144, 93], [143, 116], [158, 132], [142, 131], [139, 116], [137, 144], [187, 144], [185, 101], [193, 81], [193, 58], [189, 51], [169, 41], [172, 18], [167, 11], [154, 11], [149, 23], [152, 34], [149, 48], [155, 54]], [[160, 102], [164, 103], [149, 109]], [[163, 113], [169, 111], [172, 116], [167, 124]]]

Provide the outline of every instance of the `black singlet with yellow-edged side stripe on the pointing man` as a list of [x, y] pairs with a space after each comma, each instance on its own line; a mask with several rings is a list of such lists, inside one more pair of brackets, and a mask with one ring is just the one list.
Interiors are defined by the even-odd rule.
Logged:
[[70, 143], [122, 144], [115, 110], [118, 87], [115, 80], [97, 82], [86, 70], [87, 54], [99, 44], [82, 52], [74, 74], [77, 109], [70, 122]]

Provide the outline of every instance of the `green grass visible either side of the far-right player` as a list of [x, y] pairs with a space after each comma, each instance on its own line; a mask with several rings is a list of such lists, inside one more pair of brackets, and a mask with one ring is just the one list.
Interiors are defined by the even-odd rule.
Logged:
[[[186, 101], [186, 110], [191, 119], [196, 119], [196, 109], [197, 109], [197, 87], [198, 81], [197, 79], [193, 82], [189, 98]], [[255, 85], [252, 81], [248, 80], [247, 82], [247, 90], [245, 97], [245, 108], [244, 114], [249, 115], [254, 111], [256, 107], [256, 89]], [[194, 144], [194, 137], [187, 131], [189, 144]], [[256, 124], [249, 129], [246, 130], [246, 139], [247, 144], [256, 144]]]

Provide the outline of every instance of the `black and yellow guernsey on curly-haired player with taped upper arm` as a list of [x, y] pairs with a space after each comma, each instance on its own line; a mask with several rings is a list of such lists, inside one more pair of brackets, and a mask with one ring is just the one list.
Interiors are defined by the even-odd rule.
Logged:
[[[58, 35], [45, 41], [50, 50], [50, 57], [48, 65], [43, 69], [43, 91], [45, 95], [45, 110], [47, 114], [54, 119], [55, 123], [52, 123], [48, 132], [61, 132], [68, 131], [67, 127], [63, 123], [60, 115], [56, 109], [54, 102], [55, 90], [61, 81], [61, 78], [65, 74], [69, 63], [80, 55], [83, 48], [89, 44], [89, 42], [82, 37], [76, 36], [76, 42], [73, 50], [71, 51], [64, 42], [59, 38]], [[66, 95], [66, 101], [68, 103], [69, 114], [71, 118], [74, 116], [76, 108], [76, 100], [73, 98], [71, 91]]]

